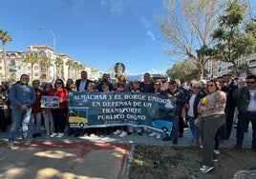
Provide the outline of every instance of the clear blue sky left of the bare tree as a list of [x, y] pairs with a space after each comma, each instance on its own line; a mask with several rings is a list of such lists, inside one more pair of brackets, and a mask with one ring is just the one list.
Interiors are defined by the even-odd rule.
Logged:
[[52, 30], [57, 53], [102, 72], [117, 62], [129, 74], [165, 72], [168, 45], [154, 17], [161, 10], [161, 0], [2, 0], [0, 29], [13, 39], [7, 50], [53, 48]]

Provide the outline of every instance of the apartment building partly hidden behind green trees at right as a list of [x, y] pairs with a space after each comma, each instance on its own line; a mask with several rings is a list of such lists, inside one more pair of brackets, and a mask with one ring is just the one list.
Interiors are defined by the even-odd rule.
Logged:
[[[247, 64], [249, 70], [253, 74], [256, 74], [256, 53], [239, 59], [238, 64]], [[232, 67], [233, 64], [231, 63], [210, 59], [205, 64], [205, 70], [208, 71], [206, 79], [210, 80], [214, 77], [222, 76], [225, 73], [229, 73], [231, 72]], [[244, 78], [246, 77], [246, 74], [243, 73], [241, 74], [241, 76], [238, 77]]]

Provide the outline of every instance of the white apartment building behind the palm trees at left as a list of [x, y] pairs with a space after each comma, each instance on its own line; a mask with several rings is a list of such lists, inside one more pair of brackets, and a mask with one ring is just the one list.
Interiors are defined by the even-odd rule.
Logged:
[[[38, 63], [33, 65], [33, 75], [32, 75], [32, 64], [25, 63], [24, 60], [29, 54], [33, 54], [37, 57]], [[48, 57], [52, 59], [52, 66], [45, 67], [42, 66], [44, 58]], [[63, 60], [63, 67], [56, 67], [54, 59], [60, 58]], [[6, 59], [8, 62], [8, 77], [5, 77], [5, 68], [4, 68], [4, 52], [0, 51], [0, 80], [19, 80], [21, 74], [29, 74], [34, 80], [38, 79], [42, 82], [48, 81], [51, 82], [56, 78], [61, 78], [66, 81], [68, 78], [73, 80], [80, 78], [80, 71], [86, 70], [88, 72], [88, 78], [92, 80], [97, 80], [101, 77], [101, 73], [96, 68], [87, 67], [80, 62], [75, 61], [69, 55], [65, 53], [55, 53], [54, 50], [48, 46], [29, 46], [28, 51], [7, 51]], [[81, 68], [75, 70], [67, 65], [69, 60], [76, 62]]]

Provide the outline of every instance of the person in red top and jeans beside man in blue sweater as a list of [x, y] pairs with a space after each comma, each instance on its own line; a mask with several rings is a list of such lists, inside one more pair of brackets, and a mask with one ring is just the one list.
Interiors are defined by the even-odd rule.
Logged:
[[42, 90], [39, 89], [40, 81], [33, 80], [32, 87], [35, 90], [35, 102], [32, 104], [32, 116], [30, 121], [30, 129], [32, 131], [32, 137], [39, 137], [41, 136], [41, 120], [42, 120], [42, 113], [41, 113], [41, 96]]

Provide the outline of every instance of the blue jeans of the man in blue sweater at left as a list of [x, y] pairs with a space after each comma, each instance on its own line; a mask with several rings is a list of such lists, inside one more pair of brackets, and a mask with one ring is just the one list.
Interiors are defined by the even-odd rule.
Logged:
[[28, 137], [29, 123], [31, 119], [32, 108], [23, 109], [11, 109], [11, 129], [9, 132], [9, 141], [13, 141], [16, 131], [21, 126], [22, 138]]

